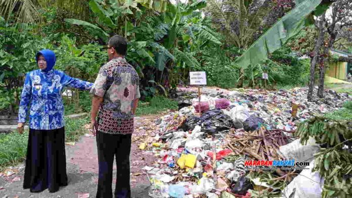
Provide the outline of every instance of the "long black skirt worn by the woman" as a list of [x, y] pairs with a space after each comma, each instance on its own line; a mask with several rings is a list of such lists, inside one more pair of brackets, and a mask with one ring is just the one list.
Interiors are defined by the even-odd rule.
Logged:
[[56, 192], [67, 185], [65, 127], [29, 129], [23, 188], [31, 192]]

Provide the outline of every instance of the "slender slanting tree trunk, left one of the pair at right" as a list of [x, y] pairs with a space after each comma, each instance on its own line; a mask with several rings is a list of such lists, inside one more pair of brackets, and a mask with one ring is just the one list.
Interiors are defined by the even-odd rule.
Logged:
[[316, 45], [314, 47], [314, 56], [313, 59], [311, 60], [311, 77], [309, 81], [309, 88], [308, 88], [308, 94], [307, 94], [307, 100], [309, 102], [312, 102], [312, 97], [313, 97], [313, 91], [314, 91], [314, 81], [315, 81], [315, 67], [317, 65], [318, 57], [320, 56], [320, 48], [323, 45], [323, 38], [324, 38], [324, 29], [323, 29], [323, 24], [325, 22], [325, 13], [322, 14], [320, 17], [320, 21], [318, 22], [318, 40], [316, 42]]

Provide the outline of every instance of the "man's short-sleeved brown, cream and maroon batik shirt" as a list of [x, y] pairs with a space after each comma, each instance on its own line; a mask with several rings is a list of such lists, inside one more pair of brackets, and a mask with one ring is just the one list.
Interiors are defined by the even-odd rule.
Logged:
[[134, 101], [141, 96], [139, 76], [124, 58], [104, 65], [91, 93], [104, 98], [98, 113], [98, 131], [131, 134], [134, 130]]

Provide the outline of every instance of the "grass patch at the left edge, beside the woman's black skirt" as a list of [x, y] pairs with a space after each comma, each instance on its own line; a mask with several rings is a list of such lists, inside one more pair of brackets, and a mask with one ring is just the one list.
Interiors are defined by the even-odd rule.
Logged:
[[0, 171], [8, 166], [16, 166], [26, 157], [28, 131], [22, 135], [18, 132], [0, 134]]

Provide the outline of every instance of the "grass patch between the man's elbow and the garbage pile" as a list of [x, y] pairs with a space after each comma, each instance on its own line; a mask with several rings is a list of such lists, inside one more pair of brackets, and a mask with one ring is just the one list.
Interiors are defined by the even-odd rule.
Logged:
[[148, 105], [139, 102], [136, 115], [152, 115], [166, 110], [177, 110], [178, 103], [163, 96], [155, 96], [151, 98]]

